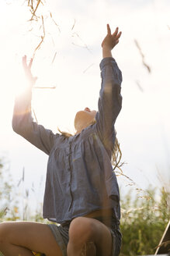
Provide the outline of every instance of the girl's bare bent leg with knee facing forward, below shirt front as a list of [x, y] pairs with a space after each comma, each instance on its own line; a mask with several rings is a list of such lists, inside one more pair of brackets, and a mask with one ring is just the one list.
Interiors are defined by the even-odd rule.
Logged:
[[112, 236], [107, 226], [96, 219], [78, 217], [69, 229], [68, 256], [110, 256]]

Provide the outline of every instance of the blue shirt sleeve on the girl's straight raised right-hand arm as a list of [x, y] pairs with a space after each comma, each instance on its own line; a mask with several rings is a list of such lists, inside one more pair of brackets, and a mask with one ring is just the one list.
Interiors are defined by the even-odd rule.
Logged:
[[102, 85], [95, 120], [99, 136], [104, 144], [108, 144], [116, 137], [114, 124], [122, 108], [122, 73], [112, 57], [102, 59], [100, 69]]

